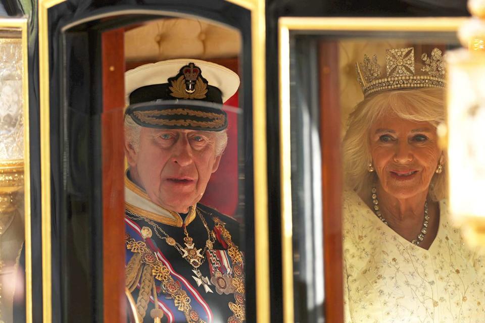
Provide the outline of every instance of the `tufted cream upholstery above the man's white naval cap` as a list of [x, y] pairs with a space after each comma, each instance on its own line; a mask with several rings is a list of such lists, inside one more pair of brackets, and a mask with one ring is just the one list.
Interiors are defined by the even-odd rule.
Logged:
[[240, 47], [237, 30], [191, 19], [160, 19], [125, 32], [127, 62], [235, 58]]

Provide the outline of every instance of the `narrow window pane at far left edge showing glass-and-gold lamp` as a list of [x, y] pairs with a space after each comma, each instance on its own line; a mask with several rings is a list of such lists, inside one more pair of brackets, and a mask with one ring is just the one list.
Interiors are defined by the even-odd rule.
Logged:
[[[12, 32], [0, 39], [0, 320], [13, 322], [14, 294], [24, 297], [18, 271], [24, 242], [24, 127], [22, 44]], [[23, 262], [23, 261], [22, 261]], [[22, 300], [20, 300], [22, 301]]]

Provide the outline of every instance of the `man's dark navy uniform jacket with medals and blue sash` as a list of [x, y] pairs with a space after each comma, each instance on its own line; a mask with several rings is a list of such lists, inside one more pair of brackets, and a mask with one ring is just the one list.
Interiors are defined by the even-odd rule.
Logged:
[[[240, 228], [238, 222], [202, 204], [197, 204], [197, 212], [195, 212], [195, 214], [189, 212], [183, 222], [177, 213], [170, 213], [173, 215], [173, 218], [175, 218], [175, 223], [170, 217], [156, 218], [154, 217], [153, 212], [145, 213], [143, 210], [127, 203], [125, 213], [127, 234], [125, 237], [127, 241], [126, 275], [127, 280], [128, 278], [131, 280], [131, 284], [129, 284], [132, 290], [131, 293], [134, 301], [137, 302], [137, 309], [139, 315], [143, 318], [143, 322], [154, 322], [154, 318], [151, 317], [151, 311], [155, 308], [154, 289], [147, 287], [147, 284], [149, 283], [145, 283], [145, 286], [142, 286], [143, 273], [140, 273], [143, 272], [142, 268], [138, 268], [137, 273], [134, 274], [133, 263], [130, 265], [130, 260], [133, 256], [143, 252], [143, 250], [145, 252], [147, 250], [152, 252], [152, 254], [157, 257], [156, 260], [159, 260], [165, 266], [162, 266], [162, 269], [156, 268], [156, 273], [159, 271], [166, 272], [166, 269], [170, 272], [171, 279], [166, 276], [164, 277], [163, 273], [159, 276], [159, 279], [153, 275], [153, 282], [155, 283], [155, 290], [158, 298], [158, 308], [163, 311], [162, 322], [243, 322], [245, 312], [245, 291], [244, 266], [242, 263], [244, 263], [244, 261], [238, 263], [237, 255], [236, 259], [234, 259], [235, 254], [232, 252], [231, 257], [231, 252], [229, 252], [231, 249], [230, 242], [232, 242], [232, 250], [239, 247], [241, 243], [239, 239]], [[179, 219], [176, 218], [177, 216]], [[201, 216], [206, 221], [210, 236]], [[218, 226], [218, 224], [221, 223], [225, 231], [224, 229], [221, 229], [221, 225]], [[174, 246], [169, 245], [166, 241], [167, 239], [165, 239], [166, 235], [168, 235], [175, 239], [179, 245], [185, 247], [185, 234], [182, 227], [184, 225], [189, 237], [193, 239], [195, 248], [202, 249], [201, 254], [204, 257], [204, 261], [198, 267], [198, 270], [202, 273], [202, 277], [212, 281], [212, 283], [206, 287], [204, 284], [198, 286], [197, 280], [193, 278], [193, 276], [197, 276], [193, 272], [195, 268], [182, 257], [180, 252]], [[150, 230], [143, 228], [149, 228]], [[162, 233], [161, 230], [163, 230], [166, 235]], [[145, 233], [145, 236], [143, 236], [142, 232]], [[147, 233], [149, 235], [151, 234], [151, 237], [146, 237]], [[227, 236], [227, 234], [230, 235], [229, 243], [227, 237], [224, 237], [224, 235]], [[205, 248], [208, 239], [213, 241], [212, 249]], [[136, 243], [144, 242], [147, 250], [142, 249], [141, 251], [135, 250], [135, 252], [133, 252], [129, 249], [130, 241], [132, 246]], [[137, 249], [138, 245], [134, 248]], [[203, 252], [204, 249], [206, 249], [205, 252]], [[243, 254], [240, 251], [238, 251], [238, 254], [242, 259]], [[140, 256], [138, 256], [138, 258], [139, 257]], [[139, 266], [150, 266], [153, 274], [153, 269], [156, 265], [149, 265], [148, 263], [153, 262], [153, 259], [150, 256], [149, 258], [150, 259], [145, 262], [141, 261]], [[234, 268], [234, 266], [236, 266], [236, 268]], [[131, 270], [131, 273], [129, 273], [129, 270]], [[150, 272], [150, 270], [147, 269], [147, 273], [144, 274], [146, 277], [149, 277], [148, 272]], [[229, 277], [229, 280], [222, 279], [222, 274]], [[160, 277], [162, 277], [162, 279], [160, 279]], [[241, 278], [242, 286], [240, 284]], [[149, 278], [146, 278], [146, 281], [148, 282]], [[178, 285], [179, 290], [177, 289], [177, 286], [172, 283]], [[164, 286], [164, 284], [166, 286]], [[234, 287], [234, 285], [236, 285], [237, 288]], [[167, 288], [167, 286], [171, 289]], [[206, 292], [207, 288], [210, 288], [211, 291]], [[170, 290], [175, 292], [171, 294]], [[180, 290], [182, 291], [181, 293]], [[143, 292], [145, 300], [147, 299], [147, 294], [150, 294], [148, 295], [150, 300], [146, 309], [143, 308], [143, 297], [139, 300], [141, 291]], [[180, 309], [180, 303], [187, 303], [187, 298], [180, 296], [180, 294], [185, 294], [189, 299], [188, 304], [190, 309], [188, 311]], [[175, 299], [177, 297], [183, 298], [184, 300], [180, 302], [180, 299]], [[140, 303], [142, 306], [139, 306]]]

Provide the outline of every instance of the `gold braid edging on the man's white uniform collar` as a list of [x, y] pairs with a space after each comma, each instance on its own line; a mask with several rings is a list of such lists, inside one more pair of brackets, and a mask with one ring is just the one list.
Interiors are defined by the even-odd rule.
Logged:
[[126, 190], [130, 190], [131, 192], [136, 194], [139, 198], [143, 199], [144, 203], [152, 204], [155, 208], [159, 208], [160, 212], [164, 213], [164, 215], [161, 215], [159, 213], [151, 212], [151, 211], [148, 211], [146, 208], [139, 207], [137, 205], [134, 205], [133, 203], [126, 201], [125, 202], [126, 209], [128, 209], [133, 213], [139, 214], [140, 216], [143, 216], [150, 220], [157, 221], [170, 226], [175, 226], [175, 227], [182, 227], [183, 224], [188, 226], [196, 218], [197, 204], [190, 206], [187, 217], [185, 217], [185, 220], [182, 221], [180, 214], [178, 214], [177, 212], [168, 210], [158, 205], [157, 203], [154, 203], [145, 191], [139, 188], [135, 183], [133, 183], [128, 178], [127, 174], [125, 174], [125, 199], [128, 200], [127, 197], [129, 195], [129, 192], [127, 192]]

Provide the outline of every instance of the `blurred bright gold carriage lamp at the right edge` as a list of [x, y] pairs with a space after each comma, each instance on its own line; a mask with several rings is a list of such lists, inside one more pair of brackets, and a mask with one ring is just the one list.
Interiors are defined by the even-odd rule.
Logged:
[[449, 210], [469, 244], [485, 245], [485, 0], [468, 9], [458, 32], [467, 49], [447, 53]]

